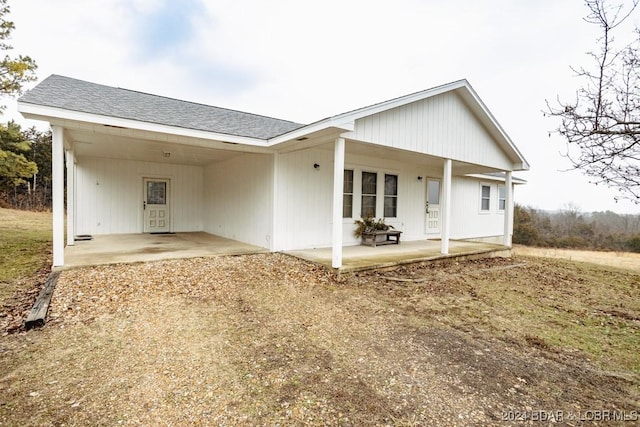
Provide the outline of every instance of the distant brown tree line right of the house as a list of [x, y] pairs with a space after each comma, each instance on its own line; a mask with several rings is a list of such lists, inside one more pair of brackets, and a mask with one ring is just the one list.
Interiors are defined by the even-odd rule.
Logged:
[[516, 204], [513, 243], [640, 252], [640, 215], [611, 211], [582, 213], [572, 205], [549, 212]]

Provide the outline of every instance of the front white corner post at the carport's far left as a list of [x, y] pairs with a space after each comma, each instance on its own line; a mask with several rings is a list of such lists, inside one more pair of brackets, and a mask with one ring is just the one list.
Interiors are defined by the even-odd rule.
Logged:
[[52, 126], [51, 196], [53, 210], [53, 266], [64, 265], [64, 133]]

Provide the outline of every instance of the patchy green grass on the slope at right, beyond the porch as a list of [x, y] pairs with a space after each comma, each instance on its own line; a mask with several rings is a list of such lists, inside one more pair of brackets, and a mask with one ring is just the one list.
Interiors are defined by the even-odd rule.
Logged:
[[526, 270], [474, 283], [494, 333], [640, 375], [640, 275], [562, 260]]

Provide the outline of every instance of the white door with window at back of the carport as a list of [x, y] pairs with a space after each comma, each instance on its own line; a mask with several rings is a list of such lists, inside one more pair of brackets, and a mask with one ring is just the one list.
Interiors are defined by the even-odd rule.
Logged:
[[170, 181], [144, 178], [144, 232], [168, 233], [171, 231]]

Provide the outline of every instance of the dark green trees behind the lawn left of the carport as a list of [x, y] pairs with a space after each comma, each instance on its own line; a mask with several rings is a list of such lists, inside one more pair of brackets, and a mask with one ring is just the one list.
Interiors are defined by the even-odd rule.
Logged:
[[0, 124], [0, 207], [51, 208], [51, 131]]

